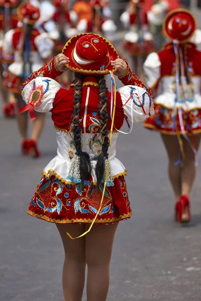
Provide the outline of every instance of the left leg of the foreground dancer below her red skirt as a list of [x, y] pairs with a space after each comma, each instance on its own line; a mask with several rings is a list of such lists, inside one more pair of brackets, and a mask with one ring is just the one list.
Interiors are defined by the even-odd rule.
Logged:
[[69, 232], [72, 237], [77, 237], [84, 232], [84, 225], [56, 224], [56, 226], [65, 252], [62, 277], [64, 299], [65, 301], [81, 301], [86, 266], [85, 236], [72, 240], [66, 232]]

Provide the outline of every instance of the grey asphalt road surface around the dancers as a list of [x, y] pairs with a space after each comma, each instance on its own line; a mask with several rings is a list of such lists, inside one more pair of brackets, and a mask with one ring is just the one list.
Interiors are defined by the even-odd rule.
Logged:
[[[56, 154], [50, 115], [40, 159], [21, 157], [15, 120], [1, 117], [0, 127], [0, 301], [63, 301], [57, 229], [26, 214], [40, 173]], [[108, 301], [200, 301], [201, 165], [191, 196], [192, 222], [180, 226], [173, 221], [159, 134], [135, 124], [129, 136], [120, 134], [117, 157], [129, 170], [133, 216], [117, 230]]]

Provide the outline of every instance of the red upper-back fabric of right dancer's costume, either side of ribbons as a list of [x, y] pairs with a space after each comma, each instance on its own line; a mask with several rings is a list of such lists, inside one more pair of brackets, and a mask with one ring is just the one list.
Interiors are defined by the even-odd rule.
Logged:
[[[180, 45], [183, 49], [184, 45]], [[194, 75], [201, 75], [201, 52], [196, 50], [196, 46], [192, 43], [186, 44], [187, 49], [187, 60], [191, 64]], [[164, 45], [163, 50], [158, 52], [158, 56], [161, 62], [161, 77], [165, 75], [174, 74], [175, 54], [173, 43]]]

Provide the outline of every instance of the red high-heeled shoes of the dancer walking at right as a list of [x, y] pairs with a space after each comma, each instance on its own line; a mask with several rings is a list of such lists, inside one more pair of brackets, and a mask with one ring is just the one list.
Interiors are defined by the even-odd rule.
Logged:
[[191, 220], [190, 201], [187, 195], [182, 195], [175, 205], [175, 220], [179, 223], [189, 223]]

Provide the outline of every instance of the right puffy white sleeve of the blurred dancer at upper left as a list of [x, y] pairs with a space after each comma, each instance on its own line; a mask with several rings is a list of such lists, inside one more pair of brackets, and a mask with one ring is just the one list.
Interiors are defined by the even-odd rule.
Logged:
[[53, 51], [54, 42], [48, 36], [48, 33], [42, 33], [34, 39], [38, 52], [43, 59], [47, 59]]

